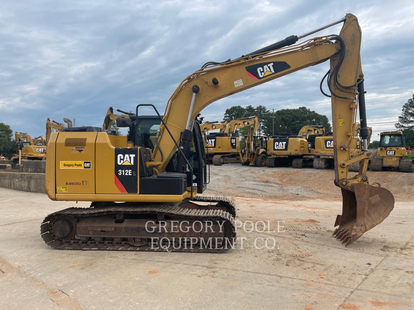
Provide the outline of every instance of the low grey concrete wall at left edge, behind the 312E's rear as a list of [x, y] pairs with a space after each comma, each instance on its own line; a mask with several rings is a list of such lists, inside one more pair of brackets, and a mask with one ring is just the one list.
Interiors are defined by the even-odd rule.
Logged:
[[0, 172], [0, 187], [31, 193], [46, 193], [45, 176], [44, 173]]

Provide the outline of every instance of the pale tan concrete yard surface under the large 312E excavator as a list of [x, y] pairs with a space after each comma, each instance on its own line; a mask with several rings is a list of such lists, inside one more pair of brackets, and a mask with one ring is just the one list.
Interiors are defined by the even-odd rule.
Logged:
[[89, 203], [0, 188], [0, 308], [414, 307], [410, 203], [344, 248], [331, 237], [338, 201], [236, 198], [237, 219], [265, 231], [246, 222], [243, 245], [224, 254], [53, 250], [42, 219], [72, 206]]

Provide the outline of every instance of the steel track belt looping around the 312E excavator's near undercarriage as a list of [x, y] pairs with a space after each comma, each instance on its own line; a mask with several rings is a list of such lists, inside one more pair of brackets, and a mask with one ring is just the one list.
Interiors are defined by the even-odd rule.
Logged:
[[[197, 196], [196, 196], [197, 197]], [[203, 198], [202, 198], [203, 199]], [[219, 200], [219, 199], [218, 199]], [[164, 214], [174, 217], [183, 217], [183, 219], [191, 220], [224, 220], [227, 225], [231, 227], [231, 234], [224, 236], [224, 238], [230, 238], [234, 242], [236, 238], [236, 231], [234, 228], [234, 217], [229, 212], [224, 210], [201, 210], [201, 209], [188, 209], [178, 207], [177, 205], [136, 205], [135, 203], [125, 203], [122, 206], [112, 207], [96, 207], [96, 208], [78, 208], [71, 207], [58, 212], [54, 212], [48, 215], [41, 224], [41, 236], [45, 243], [52, 248], [61, 250], [123, 250], [123, 251], [156, 251], [166, 252], [163, 248], [149, 248], [147, 246], [132, 246], [126, 241], [113, 242], [113, 241], [80, 241], [80, 240], [62, 240], [53, 236], [52, 226], [49, 224], [60, 215], [68, 215], [72, 217], [90, 217], [98, 215], [108, 215], [113, 213], [130, 213], [130, 214]], [[114, 244], [115, 243], [115, 244]], [[178, 248], [169, 249], [171, 252], [193, 252], [193, 253], [223, 253], [227, 251], [227, 248]]]

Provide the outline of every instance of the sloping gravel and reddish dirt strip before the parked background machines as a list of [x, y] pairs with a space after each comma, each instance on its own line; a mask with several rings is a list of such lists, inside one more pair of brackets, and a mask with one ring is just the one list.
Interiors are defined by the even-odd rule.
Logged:
[[[355, 172], [350, 174], [354, 175]], [[378, 182], [390, 190], [396, 201], [411, 201], [414, 197], [412, 173], [368, 171], [367, 176], [370, 183]], [[334, 178], [333, 169], [210, 165], [210, 183], [205, 193], [279, 200], [341, 200], [341, 191], [333, 183]]]

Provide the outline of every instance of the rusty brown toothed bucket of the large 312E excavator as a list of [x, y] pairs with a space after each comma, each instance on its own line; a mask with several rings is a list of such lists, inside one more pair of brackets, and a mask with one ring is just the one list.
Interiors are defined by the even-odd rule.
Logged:
[[332, 236], [349, 246], [366, 231], [380, 224], [394, 208], [394, 196], [386, 188], [354, 183], [342, 190], [342, 215]]

